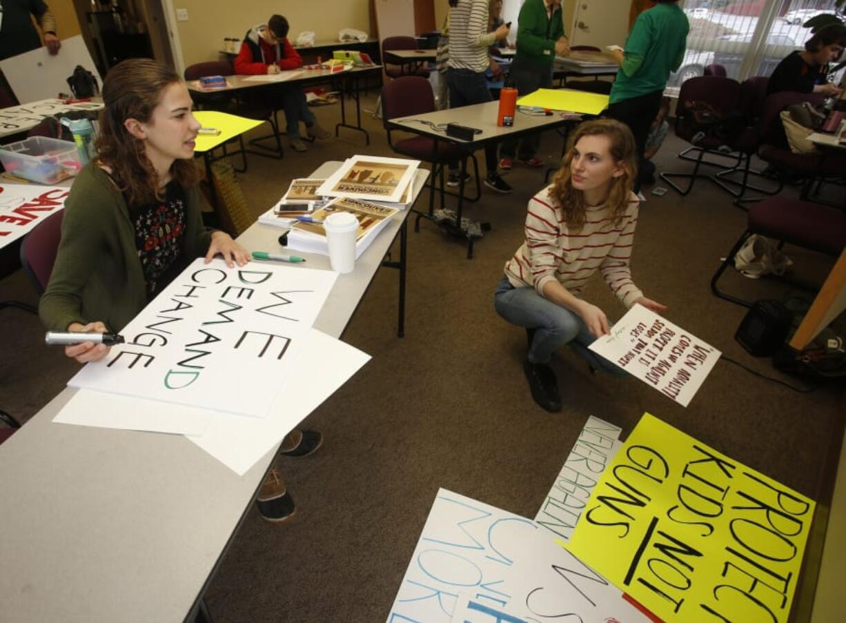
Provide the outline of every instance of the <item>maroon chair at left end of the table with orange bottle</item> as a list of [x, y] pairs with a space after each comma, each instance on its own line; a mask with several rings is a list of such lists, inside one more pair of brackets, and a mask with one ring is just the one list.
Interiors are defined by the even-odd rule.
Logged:
[[[409, 139], [401, 139], [396, 142], [392, 138], [392, 129], [388, 125], [390, 119], [398, 117], [414, 117], [426, 112], [435, 110], [435, 96], [432, 93], [431, 85], [425, 78], [419, 76], [403, 76], [393, 79], [382, 87], [382, 123], [387, 132], [387, 144], [391, 149], [402, 156], [408, 156], [415, 160], [431, 162], [432, 172], [428, 181], [429, 185], [429, 216], [432, 216], [435, 209], [435, 179], [439, 179], [441, 206], [443, 207], [443, 195], [446, 194], [443, 183], [444, 167], [450, 162], [461, 161], [470, 156], [473, 159], [473, 171], [475, 174], [476, 196], [468, 197], [470, 201], [476, 201], [481, 197], [481, 186], [479, 180], [479, 163], [470, 151], [461, 145], [446, 140], [436, 140], [428, 136], [415, 136]], [[415, 223], [415, 230], [417, 223]]]

